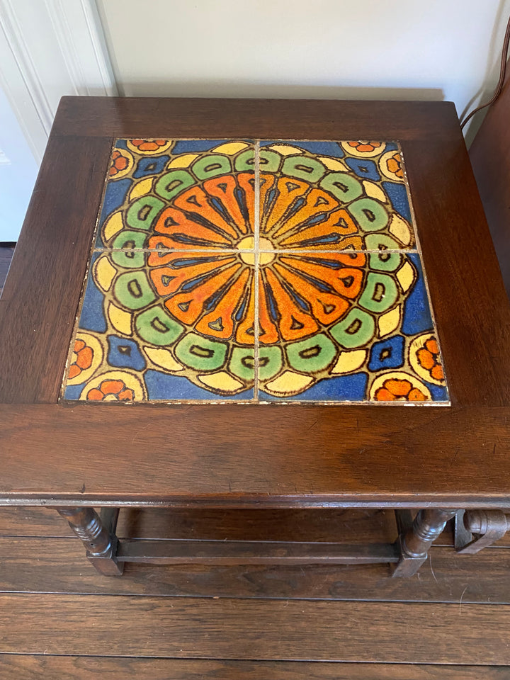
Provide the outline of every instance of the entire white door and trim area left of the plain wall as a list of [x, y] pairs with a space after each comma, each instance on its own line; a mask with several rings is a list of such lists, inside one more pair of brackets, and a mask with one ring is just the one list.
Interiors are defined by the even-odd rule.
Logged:
[[60, 97], [116, 94], [105, 55], [94, 0], [0, 0], [0, 241], [18, 239]]

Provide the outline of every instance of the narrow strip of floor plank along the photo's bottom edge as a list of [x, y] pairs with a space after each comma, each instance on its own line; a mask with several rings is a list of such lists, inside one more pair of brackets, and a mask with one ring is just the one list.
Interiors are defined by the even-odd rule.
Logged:
[[508, 667], [0, 655], [8, 680], [508, 680]]

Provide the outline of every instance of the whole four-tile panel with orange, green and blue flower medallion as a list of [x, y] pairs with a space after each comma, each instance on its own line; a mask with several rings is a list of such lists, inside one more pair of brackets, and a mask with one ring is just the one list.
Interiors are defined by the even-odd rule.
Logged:
[[62, 398], [448, 404], [397, 143], [115, 142]]

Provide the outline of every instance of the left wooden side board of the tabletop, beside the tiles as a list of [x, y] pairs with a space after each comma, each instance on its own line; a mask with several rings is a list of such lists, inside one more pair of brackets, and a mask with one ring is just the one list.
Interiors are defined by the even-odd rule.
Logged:
[[0, 299], [0, 402], [57, 401], [110, 150], [50, 136]]

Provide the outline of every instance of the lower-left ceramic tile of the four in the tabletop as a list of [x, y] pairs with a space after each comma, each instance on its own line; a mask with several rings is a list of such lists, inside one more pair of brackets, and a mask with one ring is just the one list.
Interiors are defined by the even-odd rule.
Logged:
[[[254, 270], [244, 253], [96, 251], [64, 399], [250, 400]], [[137, 258], [145, 258], [145, 261]], [[132, 266], [135, 265], [135, 266]]]

